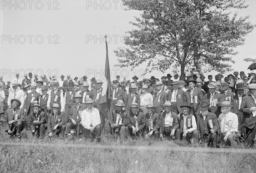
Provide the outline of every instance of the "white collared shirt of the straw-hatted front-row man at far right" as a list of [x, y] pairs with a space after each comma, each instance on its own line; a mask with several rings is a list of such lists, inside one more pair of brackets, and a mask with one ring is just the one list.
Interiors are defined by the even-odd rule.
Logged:
[[218, 117], [218, 123], [221, 133], [227, 133], [227, 135], [229, 135], [238, 130], [238, 117], [235, 113], [229, 112], [226, 115], [221, 113]]

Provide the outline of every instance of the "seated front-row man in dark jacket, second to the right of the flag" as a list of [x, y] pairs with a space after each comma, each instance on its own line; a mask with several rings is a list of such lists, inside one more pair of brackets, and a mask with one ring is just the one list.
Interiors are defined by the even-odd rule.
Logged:
[[128, 116], [128, 130], [132, 137], [142, 136], [145, 127], [145, 118], [142, 112], [138, 111], [138, 103], [131, 103], [131, 113]]

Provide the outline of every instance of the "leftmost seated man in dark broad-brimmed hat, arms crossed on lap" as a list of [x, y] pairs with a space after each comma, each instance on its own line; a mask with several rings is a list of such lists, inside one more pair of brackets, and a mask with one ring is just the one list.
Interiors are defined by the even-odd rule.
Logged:
[[17, 139], [20, 139], [20, 132], [25, 127], [24, 112], [18, 108], [21, 105], [20, 100], [12, 99], [11, 105], [12, 108], [6, 110], [5, 113], [6, 121], [8, 123], [6, 132], [10, 138], [17, 135]]

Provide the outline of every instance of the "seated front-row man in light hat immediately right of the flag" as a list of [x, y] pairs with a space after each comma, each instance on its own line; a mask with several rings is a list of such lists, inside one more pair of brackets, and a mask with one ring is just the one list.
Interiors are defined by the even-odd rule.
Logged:
[[113, 124], [110, 124], [111, 127], [111, 134], [112, 129], [114, 132], [114, 137], [117, 138], [117, 136], [120, 134], [121, 139], [124, 139], [126, 136], [128, 136], [128, 126], [127, 126], [127, 113], [124, 109], [125, 103], [122, 100], [118, 100], [116, 103], [116, 110], [113, 110]]

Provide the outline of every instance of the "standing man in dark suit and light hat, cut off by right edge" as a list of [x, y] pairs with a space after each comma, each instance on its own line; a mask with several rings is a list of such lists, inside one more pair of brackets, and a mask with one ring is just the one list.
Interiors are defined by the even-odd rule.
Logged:
[[248, 85], [249, 94], [242, 98], [241, 109], [243, 119], [241, 120], [244, 139], [251, 146], [254, 144], [256, 134], [256, 84]]

